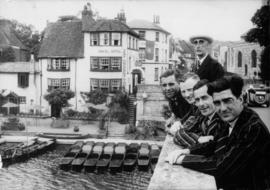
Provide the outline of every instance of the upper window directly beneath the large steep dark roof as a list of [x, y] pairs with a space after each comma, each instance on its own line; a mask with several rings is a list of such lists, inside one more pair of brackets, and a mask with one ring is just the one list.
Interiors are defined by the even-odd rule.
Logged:
[[70, 60], [65, 58], [51, 59], [47, 63], [48, 71], [69, 71], [70, 70]]

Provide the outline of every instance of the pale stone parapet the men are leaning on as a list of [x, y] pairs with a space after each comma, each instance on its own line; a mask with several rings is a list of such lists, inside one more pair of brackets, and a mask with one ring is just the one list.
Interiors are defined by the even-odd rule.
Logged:
[[180, 165], [170, 165], [165, 162], [168, 153], [176, 149], [180, 149], [180, 147], [173, 143], [171, 136], [167, 136], [148, 190], [217, 189], [213, 176], [187, 169]]

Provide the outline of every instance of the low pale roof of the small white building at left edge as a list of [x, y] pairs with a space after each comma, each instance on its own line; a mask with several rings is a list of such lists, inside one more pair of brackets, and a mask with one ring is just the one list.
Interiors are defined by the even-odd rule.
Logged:
[[0, 63], [0, 73], [32, 73], [35, 71], [33, 62]]

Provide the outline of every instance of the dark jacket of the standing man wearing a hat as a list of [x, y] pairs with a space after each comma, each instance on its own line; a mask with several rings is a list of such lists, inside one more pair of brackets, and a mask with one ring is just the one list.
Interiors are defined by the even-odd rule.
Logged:
[[207, 79], [209, 82], [217, 80], [224, 76], [224, 68], [216, 60], [214, 60], [210, 55], [207, 55], [205, 60], [201, 63], [197, 71], [200, 79]]

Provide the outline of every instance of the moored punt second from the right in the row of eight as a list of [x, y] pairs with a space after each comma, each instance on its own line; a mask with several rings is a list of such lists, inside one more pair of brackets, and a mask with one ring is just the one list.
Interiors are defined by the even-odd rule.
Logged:
[[141, 143], [141, 147], [138, 152], [138, 168], [147, 170], [150, 162], [149, 145], [147, 143]]

